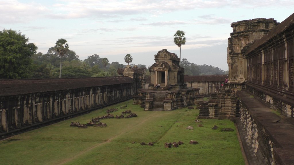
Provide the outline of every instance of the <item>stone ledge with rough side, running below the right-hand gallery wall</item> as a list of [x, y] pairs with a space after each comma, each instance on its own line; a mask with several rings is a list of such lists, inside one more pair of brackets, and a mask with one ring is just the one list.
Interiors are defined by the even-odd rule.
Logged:
[[[238, 128], [244, 128], [240, 131], [246, 132], [245, 136], [241, 136], [243, 145], [247, 144], [247, 147], [251, 147], [253, 154], [256, 155], [253, 162], [294, 164], [293, 118], [276, 115], [272, 109], [244, 90], [237, 91], [237, 96], [240, 99], [241, 114], [240, 123], [237, 122], [237, 125]], [[249, 158], [250, 155], [247, 157]]]

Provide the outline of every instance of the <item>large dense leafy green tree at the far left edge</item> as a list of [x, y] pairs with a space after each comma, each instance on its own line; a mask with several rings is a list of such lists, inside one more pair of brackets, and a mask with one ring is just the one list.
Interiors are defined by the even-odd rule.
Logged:
[[28, 43], [29, 38], [21, 32], [4, 29], [0, 31], [0, 78], [29, 78], [31, 55], [38, 47]]

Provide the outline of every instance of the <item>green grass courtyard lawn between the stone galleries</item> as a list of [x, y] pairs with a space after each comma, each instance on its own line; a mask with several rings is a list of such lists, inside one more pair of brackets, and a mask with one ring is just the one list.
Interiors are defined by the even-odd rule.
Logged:
[[[107, 127], [70, 127], [72, 121], [86, 123], [92, 117], [105, 115], [110, 108], [128, 105], [138, 117], [129, 119], [103, 119]], [[64, 120], [46, 127], [25, 132], [0, 141], [1, 165], [137, 165], [137, 164], [244, 164], [236, 131], [221, 132], [235, 126], [230, 120], [203, 119], [204, 127], [194, 120], [199, 110], [182, 108], [170, 112], [144, 111], [132, 100], [95, 110], [91, 113]], [[186, 129], [189, 125], [193, 130]], [[217, 125], [217, 130], [212, 130]], [[178, 148], [165, 148], [165, 142], [184, 144]], [[190, 140], [199, 144], [191, 145]], [[154, 146], [141, 146], [153, 142]]]

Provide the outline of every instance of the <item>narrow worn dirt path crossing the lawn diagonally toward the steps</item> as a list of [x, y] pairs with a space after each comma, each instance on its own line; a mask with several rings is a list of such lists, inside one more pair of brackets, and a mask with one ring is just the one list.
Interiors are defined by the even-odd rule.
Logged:
[[[141, 124], [143, 124], [144, 122], [148, 121], [149, 119], [151, 119], [152, 117], [158, 117], [158, 116], [161, 116], [161, 115], [166, 115], [166, 114], [171, 114], [171, 113], [178, 113], [178, 112], [167, 112], [167, 113], [163, 113], [163, 114], [158, 114], [158, 115], [149, 115], [148, 117], [145, 117], [144, 120], [141, 120], [138, 124], [136, 124], [134, 127], [138, 127], [140, 126]], [[133, 128], [133, 127], [132, 127]], [[89, 147], [88, 149], [86, 149], [85, 151], [82, 151], [82, 152], [79, 152], [78, 154], [75, 154], [74, 156], [72, 156], [71, 158], [68, 158], [68, 159], [64, 159], [63, 161], [61, 161], [58, 165], [62, 165], [62, 164], [65, 164], [71, 160], [74, 160], [76, 158], [78, 158], [79, 156], [83, 155], [83, 154], [86, 154], [87, 152], [93, 150], [94, 148], [96, 147], [99, 147], [103, 144], [106, 144], [106, 143], [109, 143], [111, 142], [113, 139], [115, 139], [116, 137], [120, 136], [121, 134], [124, 134], [126, 133], [126, 131], [132, 129], [132, 128], [126, 128], [126, 129], [123, 129], [119, 134], [117, 134], [116, 136], [114, 137], [111, 137], [110, 139], [108, 139], [107, 141], [103, 142], [103, 143], [99, 143], [97, 145], [93, 145], [91, 147]]]

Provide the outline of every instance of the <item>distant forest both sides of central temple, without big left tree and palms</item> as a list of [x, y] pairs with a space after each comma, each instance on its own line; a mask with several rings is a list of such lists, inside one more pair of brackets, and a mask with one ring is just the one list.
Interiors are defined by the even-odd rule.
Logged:
[[[76, 78], [76, 77], [104, 77], [104, 76], [118, 76], [117, 68], [125, 68], [126, 65], [118, 62], [107, 62], [105, 58], [100, 58], [99, 55], [88, 56], [85, 60], [79, 60], [78, 55], [74, 51], [69, 50], [66, 55], [61, 57], [62, 72], [61, 78]], [[55, 52], [54, 47], [49, 48], [46, 54], [37, 53], [31, 56], [33, 61], [34, 71], [31, 78], [58, 78], [60, 57]], [[107, 60], [106, 65], [103, 60]], [[130, 64], [132, 67], [135, 64]], [[136, 64], [139, 68], [146, 68], [145, 65]], [[184, 58], [181, 67], [185, 68], [184, 75], [221, 75], [228, 74], [218, 67], [212, 65], [197, 65], [189, 62]], [[148, 68], [146, 68], [147, 75], [150, 75]]]

